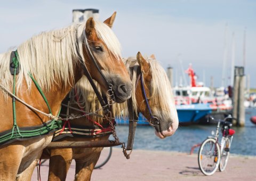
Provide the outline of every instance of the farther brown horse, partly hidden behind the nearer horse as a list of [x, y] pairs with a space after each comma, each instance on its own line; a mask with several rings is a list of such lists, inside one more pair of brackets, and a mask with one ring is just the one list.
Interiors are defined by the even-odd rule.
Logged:
[[[134, 57], [130, 57], [126, 60], [126, 68], [129, 70], [133, 83], [132, 102], [134, 110], [136, 110], [137, 113], [143, 113], [143, 115], [150, 120], [151, 117], [145, 103], [145, 97], [142, 93], [141, 82], [138, 81], [141, 72], [145, 81], [149, 106], [154, 116], [159, 120], [159, 125], [155, 126], [156, 135], [160, 138], [173, 135], [175, 130], [178, 128], [178, 115], [174, 105], [170, 82], [166, 76], [165, 70], [159, 65], [159, 63], [157, 63], [155, 59], [148, 57], [148, 59], [145, 60], [140, 53], [137, 54], [137, 60]], [[84, 108], [85, 111], [93, 111], [98, 109], [98, 106], [100, 105], [94, 101], [95, 94], [90, 86], [86, 86], [85, 80], [79, 81], [79, 83], [75, 86], [75, 89], [76, 93], [73, 92], [73, 96], [71, 96], [71, 100], [73, 100], [71, 101], [71, 106]], [[114, 104], [113, 107], [115, 108], [114, 112], [116, 113], [120, 113], [122, 109], [127, 111], [126, 103], [120, 106], [121, 110], [116, 104]], [[78, 113], [71, 110], [70, 112], [75, 114]], [[92, 136], [92, 134], [88, 136], [88, 134], [86, 135], [84, 131], [89, 128], [85, 127], [98, 127], [97, 125], [99, 119], [95, 119], [95, 117], [87, 117], [87, 119], [80, 118], [70, 120], [71, 126], [62, 132], [66, 133], [67, 136], [61, 138], [60, 140], [106, 140], [109, 137], [109, 132], [111, 129], [108, 129], [109, 122], [107, 120], [103, 119], [101, 121], [102, 122], [100, 122], [100, 124], [103, 127], [101, 128], [102, 132], [99, 131], [98, 134], [93, 134], [94, 136]], [[83, 127], [84, 129], [82, 129]], [[80, 132], [78, 130], [80, 130]], [[71, 131], [73, 131], [72, 135], [70, 134]], [[59, 131], [57, 132], [60, 133]], [[101, 133], [103, 134], [101, 135]], [[59, 136], [63, 136], [63, 134], [60, 134]], [[58, 138], [58, 136], [55, 138]], [[65, 180], [72, 159], [75, 159], [76, 161], [75, 180], [90, 180], [92, 171], [100, 157], [102, 149], [102, 147], [84, 149], [46, 149], [44, 153], [48, 154], [48, 157], [50, 154], [49, 180]]]

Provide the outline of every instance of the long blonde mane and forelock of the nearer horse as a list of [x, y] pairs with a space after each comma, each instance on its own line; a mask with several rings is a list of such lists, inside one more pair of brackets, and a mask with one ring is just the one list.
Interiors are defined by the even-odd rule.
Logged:
[[[85, 36], [86, 22], [72, 24], [59, 30], [42, 32], [18, 46], [20, 72], [17, 77], [17, 91], [25, 79], [28, 91], [31, 87], [29, 73], [34, 76], [44, 91], [52, 84], [64, 82], [64, 86], [74, 84], [74, 65], [83, 55], [83, 46], [87, 44]], [[121, 46], [114, 32], [103, 22], [95, 21], [97, 36], [106, 44], [109, 51], [121, 57]], [[11, 52], [0, 54], [0, 83], [11, 88], [13, 76], [9, 70]], [[82, 61], [85, 62], [82, 56]], [[75, 61], [75, 62], [74, 62]]]

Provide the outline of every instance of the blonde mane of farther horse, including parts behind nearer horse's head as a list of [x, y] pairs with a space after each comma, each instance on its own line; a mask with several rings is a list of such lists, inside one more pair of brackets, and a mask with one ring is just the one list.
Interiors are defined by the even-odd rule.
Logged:
[[[170, 116], [171, 111], [175, 110], [175, 107], [172, 109], [173, 105], [171, 105], [171, 102], [174, 100], [170, 81], [165, 73], [165, 70], [156, 60], [151, 59], [150, 57], [146, 57], [146, 60], [150, 64], [150, 72], [152, 73], [151, 85], [149, 86], [151, 95], [147, 95], [151, 105], [154, 106], [154, 108], [151, 109], [158, 113], [160, 113], [159, 111], [164, 110], [161, 112], [161, 114], [166, 114], [168, 117]], [[125, 61], [126, 69], [129, 71], [129, 75], [132, 79], [133, 109], [135, 112], [138, 112], [138, 105], [135, 98], [135, 84], [137, 81], [137, 70], [139, 68], [139, 64], [136, 57], [129, 57], [127, 59], [123, 59], [123, 61]], [[92, 112], [101, 108], [98, 98], [86, 77], [83, 77], [80, 81], [78, 81], [75, 88], [77, 90], [76, 96], [79, 97], [79, 102], [77, 102], [74, 98], [75, 96], [73, 96], [73, 104], [78, 104], [79, 106], [82, 105], [86, 112]], [[114, 116], [124, 119], [128, 118], [129, 114], [127, 101], [122, 104], [113, 104], [112, 108]], [[100, 111], [99, 114], [103, 115], [103, 112]], [[99, 117], [93, 118], [96, 119], [96, 121], [102, 121]]]

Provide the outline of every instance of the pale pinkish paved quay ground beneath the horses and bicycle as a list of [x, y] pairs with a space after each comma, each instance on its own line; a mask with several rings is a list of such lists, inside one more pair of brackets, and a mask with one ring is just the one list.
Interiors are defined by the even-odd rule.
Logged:
[[[130, 160], [126, 160], [122, 150], [113, 149], [108, 163], [95, 169], [92, 181], [96, 180], [256, 180], [256, 157], [230, 155], [225, 171], [217, 171], [213, 176], [204, 176], [198, 168], [197, 154], [133, 150]], [[74, 161], [66, 180], [74, 180]], [[47, 180], [48, 166], [41, 167], [41, 180]], [[37, 180], [34, 170], [31, 180]]]

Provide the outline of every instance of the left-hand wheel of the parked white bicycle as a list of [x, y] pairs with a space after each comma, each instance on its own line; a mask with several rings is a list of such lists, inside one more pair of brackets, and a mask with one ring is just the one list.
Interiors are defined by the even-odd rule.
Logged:
[[210, 176], [218, 169], [220, 163], [220, 146], [213, 138], [207, 138], [198, 152], [198, 164], [204, 175]]

